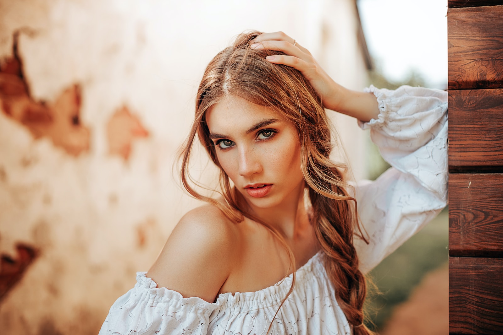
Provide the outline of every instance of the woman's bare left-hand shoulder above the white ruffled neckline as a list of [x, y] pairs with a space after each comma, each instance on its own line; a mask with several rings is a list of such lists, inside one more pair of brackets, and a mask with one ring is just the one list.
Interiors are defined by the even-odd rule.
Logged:
[[157, 287], [213, 302], [236, 262], [234, 222], [213, 205], [190, 210], [178, 222], [147, 276]]

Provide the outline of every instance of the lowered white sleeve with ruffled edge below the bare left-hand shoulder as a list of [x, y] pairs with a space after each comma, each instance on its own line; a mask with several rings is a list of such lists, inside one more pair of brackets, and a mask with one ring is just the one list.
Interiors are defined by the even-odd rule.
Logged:
[[215, 303], [156, 288], [156, 283], [145, 277], [145, 272], [138, 272], [136, 281], [135, 286], [112, 305], [99, 335], [207, 333], [209, 316], [217, 307]]

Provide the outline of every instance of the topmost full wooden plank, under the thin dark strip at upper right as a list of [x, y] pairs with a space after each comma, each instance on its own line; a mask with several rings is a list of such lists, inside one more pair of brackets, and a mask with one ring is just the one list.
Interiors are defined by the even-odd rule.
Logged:
[[503, 87], [503, 6], [451, 8], [449, 89]]

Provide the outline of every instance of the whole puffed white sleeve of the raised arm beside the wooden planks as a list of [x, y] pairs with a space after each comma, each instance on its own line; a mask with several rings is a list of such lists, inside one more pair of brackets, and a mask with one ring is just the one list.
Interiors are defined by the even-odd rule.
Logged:
[[370, 122], [372, 141], [391, 165], [375, 181], [356, 184], [364, 236], [355, 237], [360, 270], [367, 273], [423, 228], [447, 204], [447, 92], [401, 86], [370, 86], [379, 115]]

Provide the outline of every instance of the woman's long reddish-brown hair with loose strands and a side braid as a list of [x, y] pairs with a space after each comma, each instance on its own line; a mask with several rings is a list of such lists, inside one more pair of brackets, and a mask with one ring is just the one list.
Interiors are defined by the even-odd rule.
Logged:
[[[240, 34], [233, 45], [218, 53], [208, 64], [196, 97], [195, 120], [189, 139], [181, 151], [182, 183], [189, 194], [217, 206], [229, 219], [239, 222], [244, 219], [243, 216], [250, 217], [240, 207], [235, 193], [237, 190], [233, 190], [229, 177], [218, 162], [215, 146], [209, 138], [206, 111], [228, 95], [239, 96], [278, 111], [295, 125], [298, 132], [301, 171], [312, 206], [311, 224], [325, 255], [325, 269], [335, 287], [334, 295], [353, 326], [354, 334], [370, 335], [372, 332], [363, 323], [366, 281], [359, 270], [358, 255], [353, 246], [355, 233], [363, 238], [358, 224], [356, 199], [347, 192], [351, 186], [343, 176], [345, 165], [334, 163], [328, 157], [332, 150], [329, 120], [320, 97], [298, 70], [266, 60], [266, 56], [278, 54], [277, 51], [249, 47], [260, 34]], [[225, 203], [198, 193], [192, 186], [198, 184], [188, 171], [196, 136], [211, 160], [220, 168], [220, 191]], [[256, 217], [250, 218], [258, 220]], [[293, 253], [273, 227], [258, 221], [283, 244], [290, 257], [290, 266], [294, 269], [294, 280], [284, 302], [295, 284]]]

